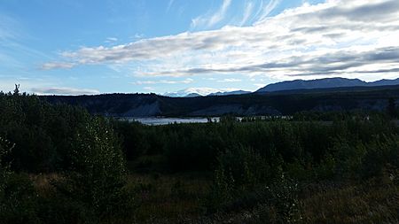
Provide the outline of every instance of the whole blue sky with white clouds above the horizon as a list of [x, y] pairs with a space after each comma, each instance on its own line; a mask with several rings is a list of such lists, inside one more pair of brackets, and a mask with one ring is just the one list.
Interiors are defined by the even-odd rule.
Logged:
[[326, 77], [399, 77], [398, 0], [0, 0], [4, 91], [254, 91]]

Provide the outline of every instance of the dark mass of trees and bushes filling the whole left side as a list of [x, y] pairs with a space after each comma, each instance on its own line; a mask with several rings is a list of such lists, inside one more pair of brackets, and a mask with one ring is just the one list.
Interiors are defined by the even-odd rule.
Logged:
[[[0, 220], [98, 223], [133, 207], [121, 143], [108, 120], [18, 92], [0, 102]], [[21, 171], [58, 175], [39, 197]]]

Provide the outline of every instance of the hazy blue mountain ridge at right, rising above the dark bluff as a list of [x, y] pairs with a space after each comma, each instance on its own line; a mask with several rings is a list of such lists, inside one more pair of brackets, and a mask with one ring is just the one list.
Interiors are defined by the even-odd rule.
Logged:
[[380, 80], [380, 81], [361, 81], [359, 79], [346, 79], [346, 78], [325, 78], [319, 80], [294, 80], [294, 81], [281, 81], [273, 84], [269, 84], [256, 92], [275, 92], [283, 90], [294, 90], [294, 89], [330, 89], [330, 88], [341, 88], [341, 87], [377, 87], [377, 86], [389, 86], [398, 85], [399, 78], [395, 80]]

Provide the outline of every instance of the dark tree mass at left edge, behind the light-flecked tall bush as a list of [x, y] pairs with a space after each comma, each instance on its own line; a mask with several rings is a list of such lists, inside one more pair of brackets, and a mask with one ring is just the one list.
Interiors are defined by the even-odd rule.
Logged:
[[0, 136], [15, 143], [12, 169], [27, 172], [68, 168], [74, 134], [90, 116], [78, 107], [18, 93], [0, 93], [0, 114]]

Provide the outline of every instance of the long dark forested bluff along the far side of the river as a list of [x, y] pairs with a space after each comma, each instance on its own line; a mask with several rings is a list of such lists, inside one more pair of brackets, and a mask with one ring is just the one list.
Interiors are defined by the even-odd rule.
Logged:
[[399, 86], [302, 89], [212, 97], [105, 94], [43, 98], [51, 103], [81, 105], [92, 113], [118, 117], [286, 115], [301, 111], [384, 111], [390, 98], [399, 98]]

